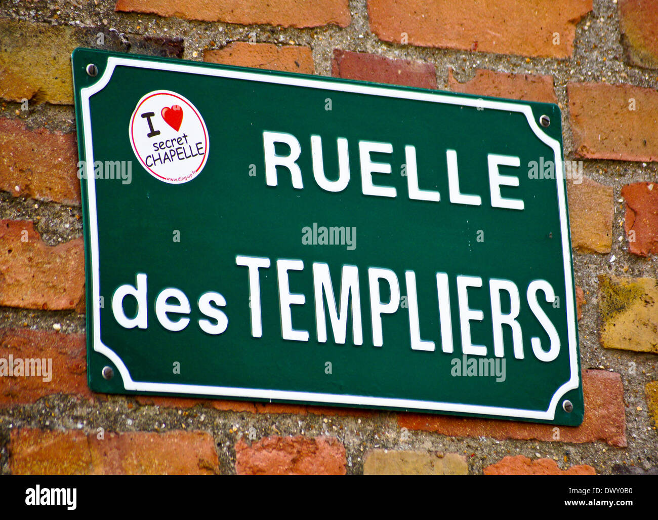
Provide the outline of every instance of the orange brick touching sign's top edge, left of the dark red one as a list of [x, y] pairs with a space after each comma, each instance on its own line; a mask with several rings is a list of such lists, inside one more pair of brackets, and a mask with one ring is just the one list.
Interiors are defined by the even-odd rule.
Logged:
[[224, 65], [249, 66], [283, 70], [284, 72], [315, 73], [310, 47], [274, 43], [247, 43], [233, 41], [222, 49], [203, 51], [203, 61]]

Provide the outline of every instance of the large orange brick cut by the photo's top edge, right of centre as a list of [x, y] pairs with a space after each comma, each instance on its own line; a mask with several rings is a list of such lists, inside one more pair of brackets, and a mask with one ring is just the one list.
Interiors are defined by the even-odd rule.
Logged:
[[385, 41], [554, 58], [572, 55], [576, 24], [590, 11], [592, 0], [368, 0], [370, 30]]

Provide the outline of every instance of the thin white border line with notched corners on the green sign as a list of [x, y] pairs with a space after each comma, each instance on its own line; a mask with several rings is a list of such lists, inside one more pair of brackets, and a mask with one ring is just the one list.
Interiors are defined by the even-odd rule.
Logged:
[[[572, 288], [573, 274], [570, 261], [569, 224], [567, 222], [567, 201], [565, 199], [565, 179], [562, 170], [562, 154], [560, 143], [547, 136], [534, 120], [532, 110], [528, 105], [520, 105], [511, 101], [492, 101], [489, 99], [470, 99], [449, 95], [446, 93], [419, 92], [413, 90], [399, 90], [390, 87], [379, 87], [369, 84], [351, 84], [334, 82], [326, 79], [276, 76], [263, 72], [247, 70], [228, 70], [223, 68], [204, 68], [198, 65], [185, 65], [184, 63], [161, 63], [148, 59], [132, 59], [111, 56], [107, 59], [107, 66], [103, 76], [92, 86], [83, 88], [82, 101], [82, 128], [84, 132], [84, 153], [87, 161], [93, 164], [93, 146], [91, 141], [91, 113], [89, 98], [103, 90], [109, 83], [116, 66], [130, 66], [135, 68], [149, 68], [155, 70], [168, 70], [172, 72], [185, 72], [188, 74], [201, 74], [203, 76], [218, 76], [238, 80], [275, 83], [280, 85], [301, 86], [322, 90], [361, 93], [365, 95], [378, 95], [382, 97], [395, 97], [399, 99], [414, 99], [429, 101], [430, 103], [445, 103], [449, 105], [462, 105], [467, 107], [482, 107], [492, 110], [519, 112], [525, 115], [532, 132], [540, 141], [551, 147], [555, 154], [555, 180], [557, 186], [557, 199], [560, 207], [560, 226], [562, 232], [562, 257], [565, 269], [565, 294], [567, 298], [567, 331], [569, 336], [569, 364], [570, 378], [553, 394], [548, 409], [527, 410], [517, 408], [503, 408], [497, 406], [469, 405], [462, 403], [443, 403], [411, 399], [380, 398], [373, 396], [353, 396], [344, 394], [320, 394], [315, 392], [297, 392], [292, 390], [267, 390], [265, 388], [234, 388], [228, 386], [205, 386], [199, 384], [153, 383], [134, 381], [121, 358], [101, 341], [101, 311], [99, 307], [99, 247], [98, 247], [98, 221], [96, 213], [95, 179], [87, 179], [87, 195], [89, 210], [89, 252], [91, 253], [91, 291], [93, 293], [93, 350], [107, 356], [118, 368], [124, 383], [125, 390], [141, 392], [161, 392], [176, 394], [197, 394], [203, 396], [223, 396], [235, 398], [259, 398], [269, 400], [305, 401], [316, 403], [332, 403], [343, 405], [365, 405], [395, 408], [413, 408], [432, 411], [451, 411], [465, 413], [479, 413], [482, 415], [499, 415], [503, 417], [519, 417], [523, 419], [540, 419], [551, 421], [555, 419], [555, 410], [561, 398], [578, 388], [578, 359], [576, 353], [576, 313], [574, 309], [574, 295]], [[88, 162], [89, 164], [89, 162]]]

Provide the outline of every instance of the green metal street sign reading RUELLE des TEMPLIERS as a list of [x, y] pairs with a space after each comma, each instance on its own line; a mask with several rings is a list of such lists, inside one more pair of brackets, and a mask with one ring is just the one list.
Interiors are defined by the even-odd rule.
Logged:
[[92, 390], [581, 423], [555, 105], [72, 66]]

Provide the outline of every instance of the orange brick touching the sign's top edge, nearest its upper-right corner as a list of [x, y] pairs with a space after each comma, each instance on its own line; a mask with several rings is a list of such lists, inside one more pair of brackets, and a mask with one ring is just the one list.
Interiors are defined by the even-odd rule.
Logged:
[[459, 83], [453, 70], [448, 69], [448, 90], [474, 95], [490, 95], [492, 97], [507, 97], [524, 101], [540, 101], [555, 103], [553, 76], [535, 76], [533, 74], [508, 74], [478, 68], [475, 77], [464, 83]]

